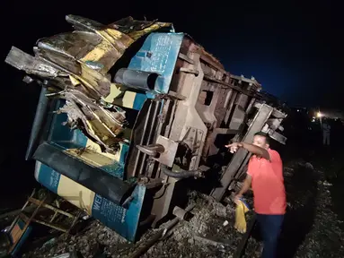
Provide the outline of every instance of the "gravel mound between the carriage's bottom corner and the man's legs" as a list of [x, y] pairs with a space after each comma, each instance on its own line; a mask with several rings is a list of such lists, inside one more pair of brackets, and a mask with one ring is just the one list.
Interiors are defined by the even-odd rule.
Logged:
[[234, 229], [234, 212], [231, 205], [202, 195], [192, 211], [194, 217], [182, 221], [170, 238], [154, 245], [143, 257], [229, 257], [243, 236]]

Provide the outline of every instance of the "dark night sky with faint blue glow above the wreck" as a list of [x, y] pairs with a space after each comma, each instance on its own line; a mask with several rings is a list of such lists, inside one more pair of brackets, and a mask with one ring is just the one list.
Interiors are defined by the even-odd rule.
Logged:
[[[334, 78], [334, 66], [341, 61], [332, 55], [342, 26], [340, 18], [335, 21], [336, 15], [331, 13], [331, 1], [98, 1], [103, 7], [79, 4], [81, 1], [5, 2], [2, 19], [8, 10], [13, 11], [11, 18], [6, 18], [7, 24], [2, 22], [3, 60], [12, 45], [32, 53], [37, 39], [71, 30], [66, 14], [102, 23], [128, 15], [137, 20], [146, 16], [147, 20], [173, 22], [178, 32], [189, 33], [220, 59], [227, 71], [254, 76], [264, 90], [289, 105], [344, 106], [342, 87], [336, 87], [339, 82]], [[13, 77], [22, 73], [3, 65], [7, 83], [17, 90], [31, 87], [13, 84]]]

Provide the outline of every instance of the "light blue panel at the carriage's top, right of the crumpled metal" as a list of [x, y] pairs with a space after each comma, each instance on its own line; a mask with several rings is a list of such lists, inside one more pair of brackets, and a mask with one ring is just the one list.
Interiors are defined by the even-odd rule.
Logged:
[[151, 33], [128, 68], [160, 74], [154, 91], [167, 93], [183, 37], [183, 33]]

